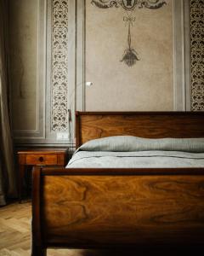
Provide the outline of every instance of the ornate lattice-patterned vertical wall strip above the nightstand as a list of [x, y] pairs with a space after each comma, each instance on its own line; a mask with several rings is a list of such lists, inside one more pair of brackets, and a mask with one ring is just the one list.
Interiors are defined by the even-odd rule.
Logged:
[[67, 131], [68, 0], [53, 0], [51, 130]]

